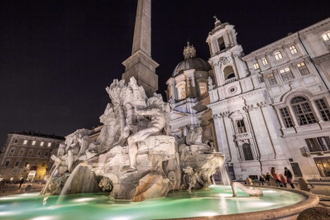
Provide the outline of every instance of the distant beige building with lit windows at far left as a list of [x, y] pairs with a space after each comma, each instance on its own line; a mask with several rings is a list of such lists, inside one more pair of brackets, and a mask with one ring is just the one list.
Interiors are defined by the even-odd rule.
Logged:
[[63, 137], [33, 132], [12, 132], [0, 154], [0, 175], [3, 180], [43, 180], [52, 153]]

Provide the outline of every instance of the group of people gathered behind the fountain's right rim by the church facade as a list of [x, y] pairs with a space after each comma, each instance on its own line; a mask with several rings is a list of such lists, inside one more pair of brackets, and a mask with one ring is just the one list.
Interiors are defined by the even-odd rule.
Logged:
[[277, 186], [287, 187], [287, 184], [290, 184], [292, 189], [295, 188], [292, 173], [286, 167], [284, 167], [284, 174], [277, 174], [275, 167], [272, 167], [270, 173], [267, 173], [266, 175], [261, 174], [259, 181], [263, 184], [264, 182], [269, 183], [271, 179], [275, 180]]

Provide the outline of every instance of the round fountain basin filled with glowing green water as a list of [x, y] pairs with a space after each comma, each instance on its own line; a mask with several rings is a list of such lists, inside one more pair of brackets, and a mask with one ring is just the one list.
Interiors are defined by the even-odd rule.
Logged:
[[43, 205], [36, 194], [0, 197], [1, 219], [295, 219], [306, 208], [315, 207], [318, 197], [298, 190], [263, 187], [262, 197], [249, 197], [238, 190], [232, 197], [229, 186], [211, 186], [209, 190], [169, 193], [166, 198], [134, 203], [109, 200], [106, 194], [51, 196]]

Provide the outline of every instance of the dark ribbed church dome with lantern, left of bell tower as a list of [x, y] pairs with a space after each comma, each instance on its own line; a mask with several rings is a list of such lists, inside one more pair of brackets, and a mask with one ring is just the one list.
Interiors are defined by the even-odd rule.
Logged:
[[194, 46], [190, 46], [189, 42], [187, 43], [187, 47], [183, 50], [184, 60], [181, 61], [174, 69], [172, 76], [179, 75], [184, 70], [196, 69], [201, 71], [209, 71], [211, 70], [211, 66], [205, 60], [196, 57], [196, 49]]

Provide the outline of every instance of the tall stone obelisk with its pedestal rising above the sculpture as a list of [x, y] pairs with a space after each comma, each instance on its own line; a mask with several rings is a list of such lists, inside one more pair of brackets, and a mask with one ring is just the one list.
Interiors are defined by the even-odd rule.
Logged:
[[151, 0], [138, 0], [132, 55], [123, 65], [125, 73], [122, 78], [126, 83], [134, 76], [148, 97], [158, 90], [156, 68], [159, 64], [151, 58]]

